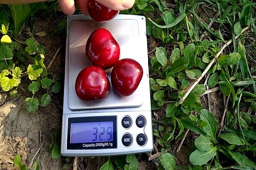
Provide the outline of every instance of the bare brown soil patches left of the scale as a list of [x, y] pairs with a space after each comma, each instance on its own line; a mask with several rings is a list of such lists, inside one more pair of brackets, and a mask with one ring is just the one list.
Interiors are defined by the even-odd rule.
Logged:
[[[33, 35], [46, 48], [44, 62], [46, 66], [49, 65], [58, 48], [65, 43], [65, 35], [52, 34], [59, 20], [53, 14], [35, 17], [33, 33], [46, 32], [44, 37]], [[49, 69], [55, 76], [64, 73], [64, 51], [65, 45]], [[29, 83], [26, 79], [22, 81]], [[25, 109], [25, 99], [31, 97], [27, 84], [21, 84], [17, 91], [18, 96], [14, 99], [3, 91], [0, 94], [0, 170], [15, 170], [13, 165], [15, 154], [20, 154], [23, 164], [29, 165], [41, 143], [43, 143], [42, 148], [34, 161], [40, 161], [41, 170], [61, 170], [62, 158], [52, 159], [47, 146], [52, 141], [51, 134], [54, 135], [55, 131], [61, 128], [63, 93], [54, 96], [53, 102], [46, 108], [39, 107], [38, 111], [30, 114]], [[41, 97], [43, 92], [39, 91], [38, 94], [38, 97]]]

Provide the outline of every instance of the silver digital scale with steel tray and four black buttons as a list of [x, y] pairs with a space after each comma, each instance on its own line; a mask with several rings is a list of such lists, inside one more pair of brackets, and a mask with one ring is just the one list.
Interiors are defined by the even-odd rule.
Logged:
[[[76, 96], [76, 77], [90, 65], [85, 45], [97, 28], [111, 32], [120, 46], [120, 59], [135, 59], [142, 65], [143, 78], [131, 96], [119, 96], [112, 86], [103, 101], [83, 102]], [[111, 70], [107, 74], [111, 81]], [[145, 17], [119, 14], [107, 23], [96, 23], [85, 15], [68, 16], [61, 155], [113, 156], [152, 150]]]

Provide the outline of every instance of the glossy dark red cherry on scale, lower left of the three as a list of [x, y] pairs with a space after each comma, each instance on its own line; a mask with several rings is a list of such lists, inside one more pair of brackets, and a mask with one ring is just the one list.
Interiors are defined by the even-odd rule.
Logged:
[[83, 101], [103, 100], [110, 91], [110, 82], [102, 68], [88, 66], [76, 77], [76, 95]]

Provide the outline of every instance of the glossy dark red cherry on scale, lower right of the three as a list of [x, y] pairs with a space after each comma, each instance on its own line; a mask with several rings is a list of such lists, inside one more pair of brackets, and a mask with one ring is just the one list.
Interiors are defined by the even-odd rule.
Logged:
[[143, 77], [143, 68], [134, 59], [121, 59], [111, 72], [113, 89], [121, 96], [130, 96], [138, 88]]

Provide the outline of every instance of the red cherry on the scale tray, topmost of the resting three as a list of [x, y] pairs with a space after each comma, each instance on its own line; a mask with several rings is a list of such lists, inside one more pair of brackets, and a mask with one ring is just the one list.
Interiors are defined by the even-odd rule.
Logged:
[[92, 65], [106, 70], [119, 60], [120, 47], [108, 30], [99, 28], [90, 34], [85, 52]]

